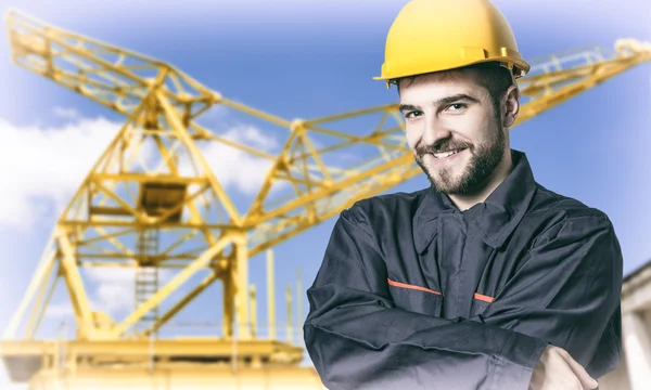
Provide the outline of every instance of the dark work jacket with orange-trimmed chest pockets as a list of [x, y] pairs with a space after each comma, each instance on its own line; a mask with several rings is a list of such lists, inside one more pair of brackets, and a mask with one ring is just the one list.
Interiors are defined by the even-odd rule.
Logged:
[[341, 212], [304, 325], [326, 387], [526, 390], [549, 343], [593, 378], [617, 366], [611, 221], [511, 153], [509, 177], [468, 210], [429, 187]]

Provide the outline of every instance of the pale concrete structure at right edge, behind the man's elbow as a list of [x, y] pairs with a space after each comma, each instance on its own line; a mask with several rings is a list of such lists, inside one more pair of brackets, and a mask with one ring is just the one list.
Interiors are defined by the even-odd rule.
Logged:
[[622, 334], [622, 363], [599, 379], [599, 389], [651, 389], [651, 261], [624, 278]]

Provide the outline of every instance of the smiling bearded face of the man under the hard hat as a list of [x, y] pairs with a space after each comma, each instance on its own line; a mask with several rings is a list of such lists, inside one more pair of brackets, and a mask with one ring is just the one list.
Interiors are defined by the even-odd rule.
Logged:
[[400, 82], [407, 143], [430, 183], [449, 195], [481, 191], [508, 151], [499, 107], [462, 69]]

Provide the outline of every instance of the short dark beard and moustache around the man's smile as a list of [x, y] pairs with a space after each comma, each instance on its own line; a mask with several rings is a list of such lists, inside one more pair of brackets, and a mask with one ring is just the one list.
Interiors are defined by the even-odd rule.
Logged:
[[[507, 138], [503, 130], [498, 126], [494, 126], [493, 129], [493, 134], [488, 141], [478, 146], [449, 138], [434, 145], [417, 147], [414, 160], [436, 191], [448, 195], [473, 194], [480, 190], [481, 185], [485, 183], [503, 159]], [[461, 148], [467, 148], [471, 157], [460, 176], [455, 177], [450, 168], [441, 168], [435, 174], [427, 171], [423, 162], [423, 157], [426, 154]]]

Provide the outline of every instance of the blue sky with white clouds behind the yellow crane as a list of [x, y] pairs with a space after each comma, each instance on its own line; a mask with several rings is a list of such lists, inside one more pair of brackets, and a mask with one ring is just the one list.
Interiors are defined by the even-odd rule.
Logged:
[[[620, 38], [651, 41], [651, 6], [646, 1], [495, 2], [509, 18], [525, 58], [589, 44], [612, 49]], [[180, 8], [178, 2], [65, 0], [54, 5], [37, 0], [2, 2], [2, 11], [16, 6], [55, 26], [169, 62], [231, 100], [285, 119], [396, 101], [395, 89], [386, 90], [371, 78], [380, 72], [386, 31], [405, 1], [207, 3], [187, 1]], [[79, 176], [123, 118], [11, 64], [5, 30], [0, 35], [0, 182], [9, 188], [0, 195], [4, 196], [0, 198], [4, 204], [0, 207], [0, 325], [4, 326], [31, 277], [58, 217], [56, 207], [69, 199]], [[651, 64], [642, 64], [512, 133], [512, 147], [527, 153], [544, 186], [611, 217], [626, 273], [651, 259], [651, 185], [646, 174], [651, 170], [650, 87]], [[230, 122], [228, 114], [205, 119], [206, 126], [225, 131]], [[251, 123], [266, 133], [266, 128]], [[282, 145], [282, 132], [275, 131], [269, 136]], [[425, 185], [421, 176], [390, 192]], [[242, 188], [233, 182], [231, 191]], [[279, 321], [284, 318], [284, 287], [295, 285], [298, 268], [304, 288], [311, 283], [333, 223], [331, 219], [275, 247]], [[264, 260], [254, 258], [250, 266], [250, 281], [258, 290], [265, 288]], [[98, 287], [91, 295], [101, 301], [102, 294], [110, 295], [124, 281], [94, 282]], [[101, 283], [111, 287], [101, 292]], [[220, 317], [218, 288], [204, 296], [183, 312], [184, 320]], [[65, 300], [63, 294], [55, 298]], [[260, 321], [266, 318], [265, 300], [260, 297], [258, 303]], [[303, 302], [305, 314], [305, 298]]]

